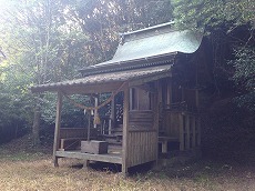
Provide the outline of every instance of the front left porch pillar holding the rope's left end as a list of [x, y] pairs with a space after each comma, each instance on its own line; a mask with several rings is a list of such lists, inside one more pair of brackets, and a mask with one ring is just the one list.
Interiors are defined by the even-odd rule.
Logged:
[[58, 92], [57, 113], [55, 113], [55, 130], [54, 130], [54, 144], [53, 144], [53, 163], [59, 167], [58, 157], [55, 155], [60, 144], [60, 124], [61, 124], [61, 109], [63, 96]]

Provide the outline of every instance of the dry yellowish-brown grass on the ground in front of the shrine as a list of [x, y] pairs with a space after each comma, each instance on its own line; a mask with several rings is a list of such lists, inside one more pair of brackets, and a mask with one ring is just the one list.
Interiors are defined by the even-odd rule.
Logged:
[[[24, 141], [26, 142], [26, 141]], [[26, 144], [26, 143], [24, 143]], [[21, 147], [21, 148], [20, 148]], [[1, 191], [225, 191], [255, 190], [255, 167], [200, 161], [140, 171], [123, 178], [108, 168], [81, 168], [63, 159], [53, 168], [51, 153], [11, 142], [0, 147]]]

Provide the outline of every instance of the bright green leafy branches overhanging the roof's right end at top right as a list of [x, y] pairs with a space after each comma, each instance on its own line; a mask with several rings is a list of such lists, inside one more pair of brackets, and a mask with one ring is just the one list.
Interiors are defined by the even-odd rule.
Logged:
[[[173, 0], [174, 16], [180, 27], [221, 28], [230, 24], [230, 30], [235, 27], [255, 21], [253, 0]], [[255, 24], [255, 23], [253, 23]]]

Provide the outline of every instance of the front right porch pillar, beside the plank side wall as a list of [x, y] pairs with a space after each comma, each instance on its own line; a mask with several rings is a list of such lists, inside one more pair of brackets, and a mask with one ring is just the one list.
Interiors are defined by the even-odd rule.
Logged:
[[123, 142], [122, 142], [122, 173], [128, 175], [128, 141], [129, 141], [129, 112], [130, 112], [130, 88], [124, 88], [124, 101], [123, 101]]

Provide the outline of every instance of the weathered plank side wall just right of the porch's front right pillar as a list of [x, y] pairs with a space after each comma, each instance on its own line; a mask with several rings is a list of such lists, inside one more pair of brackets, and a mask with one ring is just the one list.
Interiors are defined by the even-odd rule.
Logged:
[[152, 110], [130, 111], [128, 167], [157, 160], [157, 131]]

